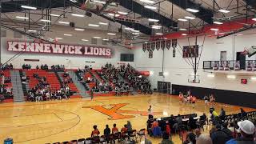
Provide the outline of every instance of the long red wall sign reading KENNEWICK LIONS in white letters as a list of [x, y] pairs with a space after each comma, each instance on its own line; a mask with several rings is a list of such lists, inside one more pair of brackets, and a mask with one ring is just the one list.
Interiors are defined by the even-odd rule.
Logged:
[[23, 51], [24, 53], [37, 54], [72, 54], [80, 56], [102, 56], [110, 58], [112, 50], [102, 46], [82, 46], [67, 44], [51, 44], [36, 42], [7, 41], [8, 51]]

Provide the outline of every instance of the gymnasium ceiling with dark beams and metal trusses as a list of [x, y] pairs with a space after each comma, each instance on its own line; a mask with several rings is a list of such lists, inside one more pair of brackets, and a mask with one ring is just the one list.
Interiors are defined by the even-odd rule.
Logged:
[[[213, 22], [233, 22], [238, 19], [254, 18], [256, 2], [254, 0], [152, 0], [150, 4], [142, 0], [100, 0], [106, 4], [87, 1], [93, 0], [2, 0], [2, 24], [13, 26], [22, 30], [42, 30], [43, 26], [62, 25], [59, 21], [74, 22], [75, 27], [85, 29], [106, 30], [113, 33], [122, 31], [122, 36], [128, 38], [149, 38], [154, 34], [182, 33], [180, 29], [201, 30]], [[114, 3], [113, 3], [114, 2]], [[86, 3], [86, 4], [85, 4]], [[114, 6], [117, 4], [118, 6]], [[21, 6], [34, 6], [37, 10], [27, 10]], [[154, 6], [155, 10], [146, 9], [144, 6]], [[89, 8], [90, 7], [90, 8]], [[197, 13], [186, 10], [191, 8], [199, 10]], [[218, 10], [229, 10], [222, 13]], [[110, 14], [118, 14], [118, 11], [128, 14], [119, 14], [114, 17]], [[88, 16], [87, 14], [92, 14]], [[49, 14], [58, 14], [59, 17]], [[71, 14], [82, 14], [85, 17], [74, 17]], [[29, 19], [18, 19], [16, 16]], [[194, 19], [186, 19], [185, 17]], [[148, 18], [158, 19], [159, 22], [150, 23]], [[186, 22], [178, 19], [186, 19]], [[48, 19], [51, 22], [41, 22], [40, 19]], [[105, 22], [107, 25], [98, 27], [88, 26]], [[246, 22], [246, 21], [243, 21]], [[12, 23], [12, 24], [10, 24]], [[22, 25], [18, 25], [22, 23]], [[152, 25], [161, 26], [160, 29], [152, 29]], [[139, 36], [131, 30], [139, 30]], [[48, 29], [47, 29], [48, 30]], [[49, 28], [50, 30], [50, 28]]]

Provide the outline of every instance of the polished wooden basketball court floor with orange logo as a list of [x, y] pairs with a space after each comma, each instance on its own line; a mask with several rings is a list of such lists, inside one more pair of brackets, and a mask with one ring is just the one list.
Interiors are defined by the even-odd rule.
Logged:
[[[92, 126], [98, 125], [101, 134], [106, 126], [117, 124], [119, 130], [127, 121], [133, 128], [146, 128], [147, 109], [152, 105], [156, 118], [170, 114], [208, 114], [209, 106], [198, 101], [193, 109], [175, 96], [166, 94], [99, 97], [49, 102], [24, 102], [0, 104], [0, 142], [14, 138], [15, 143], [44, 144], [88, 138]], [[224, 107], [227, 114], [237, 113], [238, 106], [216, 104], [219, 111]], [[252, 109], [246, 109], [252, 110]], [[206, 131], [207, 132], [207, 131]], [[159, 143], [161, 138], [150, 138]], [[174, 136], [175, 143], [181, 143]]]

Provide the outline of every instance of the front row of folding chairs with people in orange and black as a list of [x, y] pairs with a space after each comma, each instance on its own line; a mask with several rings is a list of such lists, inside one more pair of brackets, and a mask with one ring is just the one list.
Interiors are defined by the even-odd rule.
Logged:
[[[109, 125], [106, 125], [106, 128], [103, 130], [103, 134], [100, 134], [98, 126], [94, 125], [90, 138], [80, 138], [78, 140], [62, 143], [134, 143], [137, 141], [137, 138], [140, 138], [140, 141], [142, 140], [142, 137], [145, 135], [145, 129], [137, 132], [137, 130], [132, 129], [130, 122], [127, 121], [127, 124], [124, 125], [121, 130], [118, 129], [116, 124], [113, 125], [112, 129], [110, 129]], [[60, 142], [54, 142], [54, 144], [60, 144]]]

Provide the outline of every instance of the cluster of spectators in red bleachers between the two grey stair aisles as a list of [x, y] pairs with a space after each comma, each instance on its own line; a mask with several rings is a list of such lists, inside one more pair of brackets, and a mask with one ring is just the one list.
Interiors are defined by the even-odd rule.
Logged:
[[28, 90], [28, 101], [38, 102], [46, 100], [55, 100], [62, 98], [70, 98], [73, 92], [70, 90], [70, 87], [67, 85], [62, 85], [60, 90], [53, 90], [50, 87], [50, 84], [46, 82], [46, 78], [38, 78], [37, 86], [34, 86], [32, 89]]

